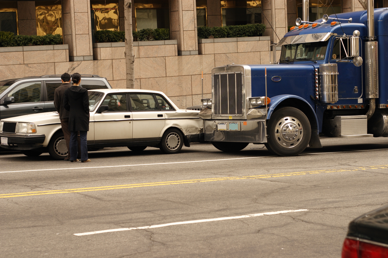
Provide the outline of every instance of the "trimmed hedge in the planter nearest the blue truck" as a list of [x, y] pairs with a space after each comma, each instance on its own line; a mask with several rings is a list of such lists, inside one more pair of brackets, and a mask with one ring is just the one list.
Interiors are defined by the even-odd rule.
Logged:
[[197, 34], [200, 39], [214, 38], [240, 38], [262, 36], [265, 31], [264, 24], [246, 24], [224, 27], [198, 27]]

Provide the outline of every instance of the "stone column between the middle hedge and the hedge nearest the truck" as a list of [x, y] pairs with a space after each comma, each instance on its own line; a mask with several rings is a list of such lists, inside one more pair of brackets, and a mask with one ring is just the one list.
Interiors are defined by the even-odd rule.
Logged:
[[171, 39], [178, 41], [178, 55], [198, 55], [195, 0], [170, 0]]

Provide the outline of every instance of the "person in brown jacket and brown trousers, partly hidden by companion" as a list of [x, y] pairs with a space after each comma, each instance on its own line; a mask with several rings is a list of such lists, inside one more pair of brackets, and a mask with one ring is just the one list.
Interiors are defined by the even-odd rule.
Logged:
[[[70, 131], [69, 131], [69, 111], [67, 111], [63, 106], [63, 95], [65, 91], [71, 87], [70, 84], [71, 76], [69, 73], [64, 73], [61, 75], [62, 84], [54, 92], [54, 106], [57, 112], [59, 113], [59, 119], [61, 120], [62, 132], [65, 137], [66, 147], [68, 147], [68, 156], [64, 159], [65, 161], [70, 160]], [[78, 142], [80, 142], [80, 137], [78, 137]], [[81, 152], [80, 143], [78, 143], [78, 151]]]

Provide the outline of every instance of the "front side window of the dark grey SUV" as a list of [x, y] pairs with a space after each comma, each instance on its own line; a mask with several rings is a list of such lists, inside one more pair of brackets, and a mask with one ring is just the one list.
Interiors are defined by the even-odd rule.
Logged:
[[19, 84], [8, 93], [8, 97], [14, 97], [15, 103], [40, 102], [41, 82]]

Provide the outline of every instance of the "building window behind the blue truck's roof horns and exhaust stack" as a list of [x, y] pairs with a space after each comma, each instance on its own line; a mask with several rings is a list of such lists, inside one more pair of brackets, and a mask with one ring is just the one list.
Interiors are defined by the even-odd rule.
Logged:
[[[309, 22], [316, 21], [318, 19], [322, 19], [324, 14], [331, 15], [339, 14], [342, 12], [341, 8], [341, 0], [333, 0], [331, 3], [333, 5], [333, 8], [330, 5], [330, 2], [322, 3], [322, 1], [309, 1], [308, 2], [308, 19]], [[296, 0], [296, 14], [301, 19], [303, 18], [302, 13], [302, 0]], [[334, 9], [334, 11], [333, 11]]]

